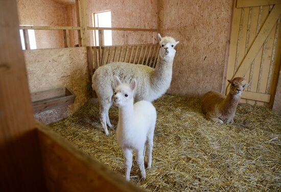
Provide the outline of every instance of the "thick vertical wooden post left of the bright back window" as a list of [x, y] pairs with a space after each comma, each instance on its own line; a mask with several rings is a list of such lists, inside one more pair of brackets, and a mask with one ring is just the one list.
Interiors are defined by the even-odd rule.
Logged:
[[90, 36], [87, 30], [87, 25], [88, 25], [87, 1], [76, 0], [75, 2], [76, 2], [77, 25], [81, 27], [81, 30], [78, 30], [79, 46], [89, 46]]

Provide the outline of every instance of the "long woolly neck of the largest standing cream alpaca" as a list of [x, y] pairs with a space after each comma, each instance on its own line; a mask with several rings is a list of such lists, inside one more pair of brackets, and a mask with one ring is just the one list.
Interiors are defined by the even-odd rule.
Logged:
[[155, 91], [161, 92], [169, 88], [172, 81], [174, 57], [159, 58], [152, 76], [152, 87]]

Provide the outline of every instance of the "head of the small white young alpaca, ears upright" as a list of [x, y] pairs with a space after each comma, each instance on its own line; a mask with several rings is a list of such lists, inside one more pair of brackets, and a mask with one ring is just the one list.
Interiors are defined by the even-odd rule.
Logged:
[[[136, 80], [133, 79], [130, 84], [122, 83], [117, 76], [114, 76], [117, 86], [114, 89], [113, 102], [117, 106], [125, 106], [134, 99], [134, 90]], [[132, 102], [133, 103], [133, 102]]]

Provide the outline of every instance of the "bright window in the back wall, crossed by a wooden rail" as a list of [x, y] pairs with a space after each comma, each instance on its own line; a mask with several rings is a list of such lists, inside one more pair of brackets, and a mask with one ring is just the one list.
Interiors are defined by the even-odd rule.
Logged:
[[[111, 11], [103, 11], [92, 14], [93, 27], [111, 28]], [[104, 45], [112, 45], [111, 30], [104, 30]], [[93, 43], [99, 46], [99, 32], [95, 30], [93, 33]]]

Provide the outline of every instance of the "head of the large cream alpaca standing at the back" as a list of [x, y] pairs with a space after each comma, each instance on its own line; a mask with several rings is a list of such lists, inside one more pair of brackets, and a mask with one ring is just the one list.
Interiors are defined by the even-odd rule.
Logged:
[[175, 46], [179, 43], [173, 37], [161, 37], [158, 33], [158, 40], [160, 44], [159, 56], [160, 58], [174, 58], [176, 54]]

